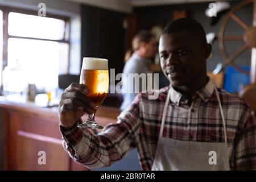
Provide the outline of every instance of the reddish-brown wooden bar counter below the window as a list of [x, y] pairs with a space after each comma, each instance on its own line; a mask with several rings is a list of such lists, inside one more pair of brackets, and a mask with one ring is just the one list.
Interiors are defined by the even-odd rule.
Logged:
[[[73, 162], [61, 144], [57, 107], [39, 107], [0, 97], [5, 170], [87, 170]], [[101, 106], [96, 121], [105, 126], [116, 122], [120, 110]], [[87, 116], [82, 119], [85, 121]], [[46, 152], [46, 164], [38, 164]]]

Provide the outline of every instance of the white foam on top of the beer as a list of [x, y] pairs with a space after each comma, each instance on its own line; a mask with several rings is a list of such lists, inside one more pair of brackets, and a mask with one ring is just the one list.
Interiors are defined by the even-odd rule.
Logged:
[[97, 57], [84, 57], [82, 59], [82, 69], [107, 70], [108, 60]]

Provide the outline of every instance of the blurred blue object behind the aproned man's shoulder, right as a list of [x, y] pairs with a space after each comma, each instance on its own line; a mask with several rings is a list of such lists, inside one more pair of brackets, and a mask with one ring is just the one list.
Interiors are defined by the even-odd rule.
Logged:
[[[249, 66], [242, 66], [246, 71], [250, 71]], [[250, 84], [250, 75], [237, 71], [232, 66], [226, 67], [224, 89], [230, 93], [238, 93], [243, 86]]]

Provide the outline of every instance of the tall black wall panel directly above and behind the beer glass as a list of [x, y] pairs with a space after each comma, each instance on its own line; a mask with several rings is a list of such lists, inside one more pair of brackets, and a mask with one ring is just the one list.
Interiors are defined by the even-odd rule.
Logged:
[[82, 5], [81, 61], [82, 57], [103, 57], [109, 60], [109, 69], [121, 73], [125, 58], [124, 19], [123, 13]]

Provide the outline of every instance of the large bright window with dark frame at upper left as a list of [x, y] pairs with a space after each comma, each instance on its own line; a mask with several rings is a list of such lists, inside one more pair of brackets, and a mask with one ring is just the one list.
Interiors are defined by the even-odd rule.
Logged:
[[28, 84], [36, 84], [39, 90], [56, 89], [58, 75], [68, 73], [69, 19], [47, 16], [6, 8], [0, 11], [0, 21], [7, 22], [0, 22], [5, 93], [23, 92]]

